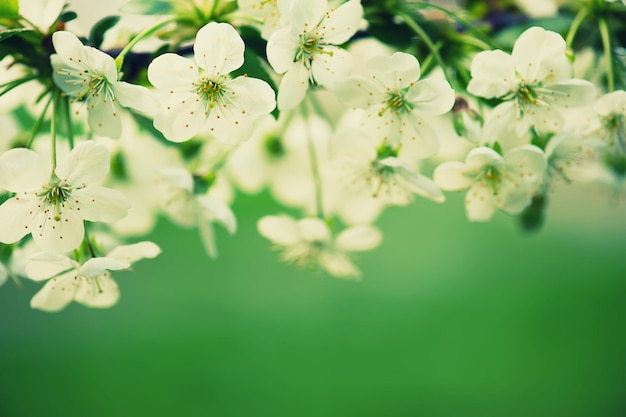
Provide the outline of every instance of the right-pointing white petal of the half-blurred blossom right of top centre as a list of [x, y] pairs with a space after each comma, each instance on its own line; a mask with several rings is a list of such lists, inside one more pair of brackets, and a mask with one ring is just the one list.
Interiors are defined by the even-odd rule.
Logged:
[[414, 111], [440, 115], [452, 109], [454, 90], [445, 80], [428, 78], [415, 83], [409, 89], [406, 100]]

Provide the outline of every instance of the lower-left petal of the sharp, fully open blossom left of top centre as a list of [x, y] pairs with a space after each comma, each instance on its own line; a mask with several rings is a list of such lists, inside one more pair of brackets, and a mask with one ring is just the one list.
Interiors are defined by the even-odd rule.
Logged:
[[154, 116], [154, 127], [172, 142], [194, 137], [206, 123], [204, 103], [195, 94], [176, 94]]

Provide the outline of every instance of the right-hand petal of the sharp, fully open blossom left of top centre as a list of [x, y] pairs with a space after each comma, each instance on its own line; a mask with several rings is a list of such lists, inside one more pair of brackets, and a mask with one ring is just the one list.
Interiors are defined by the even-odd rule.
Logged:
[[227, 97], [242, 113], [252, 116], [268, 114], [276, 107], [276, 95], [268, 83], [250, 77], [237, 77], [228, 82]]

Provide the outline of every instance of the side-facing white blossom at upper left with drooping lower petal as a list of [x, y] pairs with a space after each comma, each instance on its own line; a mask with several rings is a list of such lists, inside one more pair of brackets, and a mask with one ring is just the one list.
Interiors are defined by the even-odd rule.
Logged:
[[83, 45], [70, 32], [53, 33], [52, 44], [56, 51], [50, 56], [52, 79], [65, 94], [84, 101], [89, 126], [96, 134], [119, 138], [122, 106], [145, 113], [155, 110], [156, 101], [147, 88], [118, 81], [111, 56]]

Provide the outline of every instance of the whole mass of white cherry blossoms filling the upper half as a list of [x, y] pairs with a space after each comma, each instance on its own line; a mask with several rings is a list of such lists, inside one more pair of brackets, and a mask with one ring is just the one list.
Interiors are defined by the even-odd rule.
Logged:
[[[34, 308], [115, 304], [159, 216], [217, 257], [238, 192], [284, 207], [258, 220], [284, 262], [357, 278], [388, 207], [464, 191], [468, 221], [536, 229], [559, 181], [623, 190], [626, 4], [541, 9], [560, 33], [520, 1], [507, 43], [437, 2], [131, 0], [88, 36], [43, 3], [0, 7], [0, 285], [46, 281]], [[125, 10], [153, 24], [129, 37]]]

